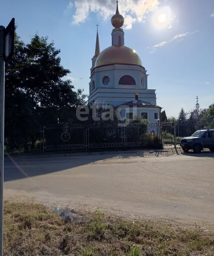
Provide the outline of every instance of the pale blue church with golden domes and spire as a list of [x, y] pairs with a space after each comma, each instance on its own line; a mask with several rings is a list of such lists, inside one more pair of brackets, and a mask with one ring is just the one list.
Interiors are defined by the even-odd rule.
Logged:
[[156, 105], [155, 89], [148, 89], [148, 75], [139, 55], [124, 45], [124, 18], [119, 13], [118, 1], [111, 24], [112, 45], [101, 52], [97, 31], [88, 103], [118, 106], [126, 118], [138, 115], [150, 123], [157, 122], [161, 107]]

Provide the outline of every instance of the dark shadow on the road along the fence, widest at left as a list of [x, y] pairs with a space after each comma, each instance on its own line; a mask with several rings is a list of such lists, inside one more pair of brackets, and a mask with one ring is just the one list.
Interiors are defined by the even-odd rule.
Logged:
[[[209, 150], [195, 154], [192, 151], [183, 152], [181, 148], [165, 148], [163, 150], [129, 150], [129, 151], [103, 151], [103, 152], [60, 152], [24, 155], [8, 155], [4, 160], [4, 181], [29, 178], [47, 173], [59, 172], [61, 170], [72, 169], [74, 167], [93, 164], [94, 162], [106, 159], [129, 159], [130, 157], [145, 156], [172, 156], [183, 155], [192, 157], [211, 157], [214, 153]], [[87, 168], [87, 167], [85, 167]], [[72, 171], [72, 170], [71, 170]]]

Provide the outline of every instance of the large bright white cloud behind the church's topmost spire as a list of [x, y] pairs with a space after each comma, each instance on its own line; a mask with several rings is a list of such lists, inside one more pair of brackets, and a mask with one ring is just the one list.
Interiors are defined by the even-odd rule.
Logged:
[[[72, 1], [70, 2], [72, 3]], [[158, 0], [123, 0], [119, 2], [120, 14], [124, 16], [125, 29], [131, 29], [136, 21], [145, 21], [145, 13], [155, 10], [158, 7]], [[71, 8], [73, 4], [71, 4]], [[75, 13], [73, 24], [84, 23], [90, 12], [97, 13], [103, 20], [109, 19], [116, 11], [114, 0], [75, 0]], [[69, 6], [68, 6], [69, 8]]]

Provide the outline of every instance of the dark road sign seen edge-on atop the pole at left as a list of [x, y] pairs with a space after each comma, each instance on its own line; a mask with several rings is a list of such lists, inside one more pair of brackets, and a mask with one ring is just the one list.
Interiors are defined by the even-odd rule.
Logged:
[[14, 32], [15, 32], [15, 19], [12, 18], [7, 28], [4, 31], [4, 44], [5, 52], [4, 58], [8, 58], [13, 55], [14, 52]]

